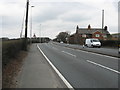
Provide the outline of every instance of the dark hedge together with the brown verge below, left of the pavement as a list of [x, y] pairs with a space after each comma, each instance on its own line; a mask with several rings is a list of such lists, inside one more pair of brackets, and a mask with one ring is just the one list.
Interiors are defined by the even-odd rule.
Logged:
[[15, 77], [20, 71], [22, 62], [27, 55], [23, 51], [24, 41], [22, 39], [2, 41], [2, 87], [15, 88], [17, 81]]

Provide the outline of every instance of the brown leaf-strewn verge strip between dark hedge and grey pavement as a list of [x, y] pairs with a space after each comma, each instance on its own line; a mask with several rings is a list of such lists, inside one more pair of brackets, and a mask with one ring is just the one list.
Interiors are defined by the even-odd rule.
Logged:
[[16, 76], [21, 71], [22, 63], [26, 57], [26, 51], [20, 51], [10, 62], [2, 69], [2, 88], [16, 88]]

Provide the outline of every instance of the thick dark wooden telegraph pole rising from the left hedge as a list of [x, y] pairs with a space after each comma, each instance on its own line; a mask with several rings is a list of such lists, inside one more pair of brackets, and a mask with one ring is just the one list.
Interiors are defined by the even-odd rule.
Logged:
[[28, 9], [29, 9], [29, 0], [27, 0], [27, 4], [26, 4], [26, 19], [25, 19], [25, 50], [27, 50]]

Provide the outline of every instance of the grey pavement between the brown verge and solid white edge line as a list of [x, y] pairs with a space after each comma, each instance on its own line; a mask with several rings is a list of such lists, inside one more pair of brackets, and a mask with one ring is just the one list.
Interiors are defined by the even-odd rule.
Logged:
[[56, 72], [32, 44], [19, 73], [18, 88], [67, 88]]

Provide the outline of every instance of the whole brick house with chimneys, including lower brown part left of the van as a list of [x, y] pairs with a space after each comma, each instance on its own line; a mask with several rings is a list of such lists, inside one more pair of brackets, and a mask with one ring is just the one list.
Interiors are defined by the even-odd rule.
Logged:
[[100, 40], [107, 40], [110, 36], [110, 33], [107, 30], [107, 26], [102, 28], [91, 28], [88, 25], [87, 28], [79, 28], [78, 25], [76, 27], [76, 33], [72, 34], [69, 37], [69, 42], [75, 44], [83, 44], [86, 38], [97, 38]]

